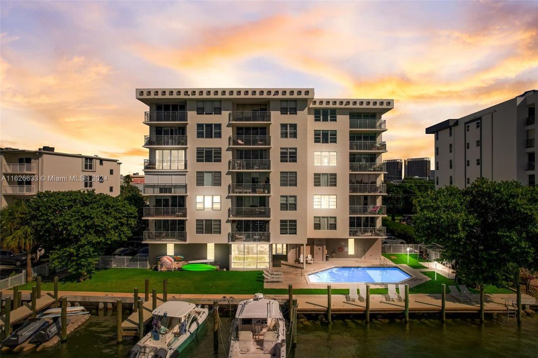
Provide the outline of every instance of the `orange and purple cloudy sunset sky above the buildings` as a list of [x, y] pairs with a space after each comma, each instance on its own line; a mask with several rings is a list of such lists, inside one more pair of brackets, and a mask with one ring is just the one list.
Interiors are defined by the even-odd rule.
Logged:
[[538, 5], [519, 2], [0, 3], [0, 146], [142, 171], [135, 88], [314, 87], [393, 98], [384, 159], [424, 128], [538, 89]]

